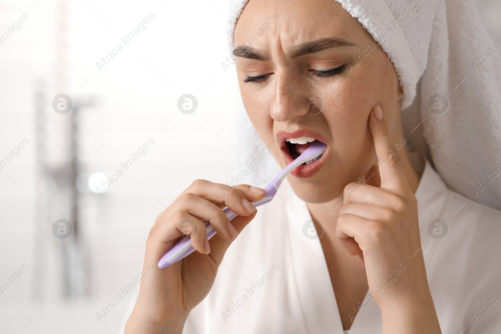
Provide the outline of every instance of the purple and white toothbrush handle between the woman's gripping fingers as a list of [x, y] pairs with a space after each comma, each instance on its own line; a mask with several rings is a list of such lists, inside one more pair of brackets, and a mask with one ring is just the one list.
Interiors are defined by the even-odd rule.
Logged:
[[[272, 196], [268, 196], [268, 193], [266, 193], [265, 197], [259, 201], [254, 201], [250, 202], [254, 207], [258, 207], [260, 205], [266, 204], [269, 201], [272, 200]], [[222, 210], [225, 214], [226, 217], [228, 217], [228, 221], [235, 218], [237, 216], [236, 213], [233, 213], [229, 208], [225, 208]], [[210, 239], [216, 234], [216, 231], [212, 228], [210, 223], [208, 221], [203, 222], [205, 224], [205, 227], [207, 228], [207, 239]], [[176, 243], [172, 245], [160, 258], [160, 261], [158, 261], [158, 267], [159, 268], [165, 268], [168, 267], [169, 265], [176, 263], [177, 261], [183, 259], [184, 257], [188, 256], [191, 254], [195, 248], [191, 246], [191, 239], [184, 239], [181, 238]]]

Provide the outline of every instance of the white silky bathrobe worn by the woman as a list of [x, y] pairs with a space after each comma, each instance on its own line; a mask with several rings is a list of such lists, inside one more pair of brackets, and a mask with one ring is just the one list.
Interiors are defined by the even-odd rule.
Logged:
[[[322, 246], [307, 223], [308, 208], [287, 181], [278, 194], [258, 209], [230, 245], [212, 289], [189, 314], [184, 334], [343, 333]], [[426, 273], [442, 332], [501, 333], [501, 211], [447, 189], [428, 161], [415, 196]], [[435, 219], [448, 226], [445, 238], [430, 236]], [[440, 232], [433, 223], [434, 228]], [[368, 296], [350, 334], [381, 332], [381, 311]]]

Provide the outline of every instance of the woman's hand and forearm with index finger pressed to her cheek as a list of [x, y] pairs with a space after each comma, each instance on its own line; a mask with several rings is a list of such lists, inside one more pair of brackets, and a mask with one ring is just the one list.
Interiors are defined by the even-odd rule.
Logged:
[[383, 333], [440, 332], [421, 251], [417, 200], [379, 105], [370, 113], [369, 128], [381, 186], [357, 184], [356, 191], [353, 184], [345, 187], [336, 236], [365, 262], [369, 290], [381, 308]]

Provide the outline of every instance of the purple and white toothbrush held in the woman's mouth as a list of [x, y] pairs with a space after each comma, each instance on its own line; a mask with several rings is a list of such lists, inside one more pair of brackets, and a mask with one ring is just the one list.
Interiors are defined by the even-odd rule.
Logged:
[[[284, 181], [285, 177], [289, 175], [290, 172], [292, 172], [296, 167], [299, 165], [302, 165], [304, 163], [306, 164], [311, 164], [317, 161], [320, 156], [325, 152], [325, 149], [327, 148], [327, 145], [322, 143], [321, 141], [317, 141], [313, 143], [312, 146], [307, 148], [296, 160], [291, 162], [286, 168], [284, 168], [275, 178], [264, 188], [266, 191], [265, 197], [259, 201], [254, 201], [250, 202], [254, 207], [258, 207], [260, 205], [266, 204], [270, 202], [273, 197], [275, 197], [275, 194], [277, 193], [277, 190], [279, 190], [280, 185]], [[226, 214], [226, 217], [228, 217], [228, 221], [235, 218], [237, 216], [236, 213], [233, 213], [229, 208], [225, 208], [224, 213]], [[203, 222], [205, 224], [205, 227], [207, 228], [207, 239], [210, 239], [214, 234], [216, 234], [216, 231], [210, 226], [210, 223], [208, 221]], [[159, 268], [165, 268], [168, 267], [169, 265], [176, 263], [177, 261], [181, 260], [182, 258], [188, 256], [191, 254], [195, 248], [191, 246], [191, 240], [190, 239], [184, 239], [181, 238], [179, 239], [176, 243], [172, 245], [163, 255], [162, 258], [160, 258], [160, 261], [158, 261], [158, 267]]]

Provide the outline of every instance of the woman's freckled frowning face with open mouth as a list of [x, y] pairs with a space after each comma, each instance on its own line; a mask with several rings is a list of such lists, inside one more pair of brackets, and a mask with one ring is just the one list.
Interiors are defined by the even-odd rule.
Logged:
[[[333, 200], [373, 167], [374, 105], [381, 105], [398, 143], [402, 92], [393, 64], [334, 0], [250, 0], [234, 45], [245, 110], [281, 167], [312, 144], [291, 143], [297, 138], [327, 144], [318, 161], [288, 177], [302, 200]], [[374, 182], [378, 175], [367, 183]]]

